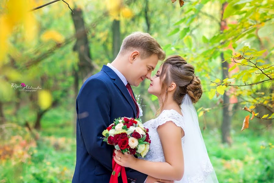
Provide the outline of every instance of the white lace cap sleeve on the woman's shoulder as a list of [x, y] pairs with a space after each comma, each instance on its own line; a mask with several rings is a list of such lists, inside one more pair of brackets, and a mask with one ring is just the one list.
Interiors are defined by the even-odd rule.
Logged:
[[164, 110], [158, 118], [155, 120], [155, 127], [165, 124], [167, 121], [172, 121], [178, 127], [181, 127], [184, 130], [185, 124], [183, 117], [175, 110]]

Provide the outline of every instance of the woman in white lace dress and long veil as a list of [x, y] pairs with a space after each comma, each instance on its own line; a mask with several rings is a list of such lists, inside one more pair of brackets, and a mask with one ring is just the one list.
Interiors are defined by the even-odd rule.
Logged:
[[158, 97], [160, 105], [158, 117], [144, 123], [150, 151], [139, 159], [116, 151], [114, 160], [158, 182], [218, 183], [193, 106], [202, 95], [194, 67], [180, 56], [171, 56], [150, 80], [148, 92]]

